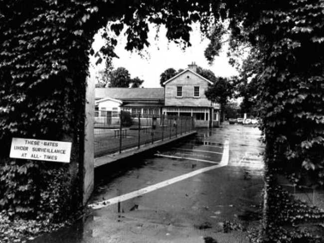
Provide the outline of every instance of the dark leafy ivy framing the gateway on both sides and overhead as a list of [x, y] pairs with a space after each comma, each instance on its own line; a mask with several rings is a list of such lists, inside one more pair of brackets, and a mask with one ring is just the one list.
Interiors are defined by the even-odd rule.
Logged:
[[[28, 185], [25, 193], [37, 192], [37, 197], [30, 201], [22, 193], [15, 194], [20, 198], [12, 199], [10, 192], [18, 192], [19, 183], [1, 181], [1, 210], [12, 206], [10, 210], [16, 214], [19, 212], [15, 209], [20, 207], [27, 212], [39, 212], [40, 208], [55, 208], [50, 204], [55, 199], [69, 200], [57, 192], [56, 196], [60, 197], [54, 200], [44, 198], [47, 194], [41, 193], [39, 189], [43, 185], [37, 180], [40, 180], [39, 175], [55, 176], [55, 172], [46, 174], [53, 168], [54, 171], [64, 168], [67, 175], [71, 171], [68, 166], [79, 168], [78, 173], [60, 178], [57, 185], [66, 182], [76, 185], [77, 178], [82, 176], [88, 54], [98, 55], [98, 63], [102, 61], [100, 55], [116, 56], [117, 41], [107, 32], [118, 35], [126, 27], [126, 49], [142, 50], [149, 46], [149, 23], [164, 24], [168, 40], [190, 46], [192, 22], [199, 21], [202, 33], [210, 37], [211, 21], [217, 26], [226, 20], [225, 30], [229, 33], [232, 50], [248, 44], [259, 52], [258, 60], [262, 63], [262, 72], [257, 73], [260, 116], [266, 143], [263, 241], [287, 241], [280, 238], [285, 231], [278, 228], [282, 222], [278, 223], [276, 217], [284, 220], [280, 215], [288, 218], [290, 212], [274, 210], [278, 207], [270, 196], [278, 198], [278, 194], [271, 184], [273, 172], [284, 171], [294, 183], [324, 184], [323, 4], [323, 0], [167, 0], [145, 1], [145, 4], [138, 0], [39, 0], [28, 4], [21, 0], [0, 0], [0, 145], [4, 151], [1, 166], [7, 165], [7, 174], [12, 175], [13, 180], [21, 176], [9, 172], [18, 168], [19, 174], [27, 168], [26, 173], [35, 176], [30, 176], [32, 182], [20, 182]], [[118, 21], [103, 33], [107, 43], [100, 49], [101, 54], [94, 53], [93, 36], [108, 20]], [[223, 34], [223, 31], [218, 33]], [[211, 38], [215, 44], [220, 43], [217, 36], [216, 33], [215, 38]], [[210, 49], [207, 54], [212, 58], [218, 49]], [[8, 159], [10, 140], [15, 136], [73, 141], [70, 165], [49, 166]], [[62, 192], [69, 191], [66, 195], [70, 195], [78, 191], [71, 188]], [[53, 191], [50, 185], [48, 191]], [[73, 202], [76, 200], [70, 200]], [[60, 210], [53, 213], [57, 212]], [[293, 216], [289, 220], [295, 224]], [[278, 237], [274, 229], [279, 229], [279, 239], [273, 238]], [[298, 235], [297, 231], [293, 234], [289, 239], [308, 237]]]

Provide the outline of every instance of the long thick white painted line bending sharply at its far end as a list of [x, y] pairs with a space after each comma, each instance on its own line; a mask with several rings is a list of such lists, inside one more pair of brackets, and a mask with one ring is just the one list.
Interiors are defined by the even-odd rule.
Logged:
[[101, 209], [101, 208], [104, 208], [104, 207], [108, 207], [110, 205], [113, 205], [113, 204], [116, 204], [116, 203], [119, 203], [119, 202], [123, 202], [123, 201], [129, 200], [129, 199], [141, 196], [143, 194], [155, 191], [155, 190], [160, 189], [162, 187], [165, 187], [165, 186], [171, 185], [173, 183], [182, 181], [184, 179], [193, 177], [193, 176], [201, 174], [203, 172], [224, 167], [224, 166], [228, 165], [228, 158], [229, 158], [229, 143], [227, 141], [227, 142], [225, 142], [224, 153], [223, 153], [222, 160], [221, 160], [220, 164], [205, 167], [205, 168], [201, 168], [201, 169], [186, 173], [184, 175], [180, 175], [180, 176], [174, 177], [172, 179], [162, 181], [162, 182], [157, 183], [155, 185], [148, 186], [148, 187], [142, 188], [140, 190], [130, 192], [130, 193], [118, 196], [118, 197], [114, 197], [114, 198], [111, 198], [111, 199], [108, 199], [108, 200], [105, 200], [105, 201], [102, 201], [102, 202], [99, 202], [99, 203], [89, 204], [88, 207], [92, 208], [92, 209]]

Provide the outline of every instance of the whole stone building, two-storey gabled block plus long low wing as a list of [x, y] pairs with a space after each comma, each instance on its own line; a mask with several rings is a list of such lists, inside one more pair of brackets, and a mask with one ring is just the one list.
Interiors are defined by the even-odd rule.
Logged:
[[[196, 64], [163, 83], [163, 88], [96, 88], [96, 122], [119, 122], [119, 112], [133, 117], [193, 117], [196, 127], [219, 125], [219, 105], [212, 104], [205, 90], [212, 82], [196, 72]], [[102, 119], [104, 118], [104, 120]]]

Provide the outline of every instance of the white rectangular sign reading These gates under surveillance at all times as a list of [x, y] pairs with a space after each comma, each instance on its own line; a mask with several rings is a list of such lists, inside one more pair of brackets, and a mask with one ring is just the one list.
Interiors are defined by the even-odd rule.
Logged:
[[70, 162], [71, 142], [12, 138], [10, 158]]

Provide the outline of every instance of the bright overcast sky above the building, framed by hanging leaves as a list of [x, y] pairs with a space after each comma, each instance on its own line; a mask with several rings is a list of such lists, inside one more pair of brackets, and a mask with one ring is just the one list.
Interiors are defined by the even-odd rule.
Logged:
[[[167, 42], [165, 37], [166, 29], [161, 26], [159, 38], [156, 39], [156, 29], [150, 31], [149, 42], [150, 47], [147, 48], [141, 56], [137, 52], [129, 52], [125, 50], [126, 38], [123, 34], [118, 37], [118, 45], [115, 49], [116, 54], [120, 58], [114, 58], [114, 68], [125, 67], [131, 74], [132, 78], [139, 77], [144, 80], [143, 86], [145, 88], [159, 88], [160, 75], [167, 68], [187, 68], [188, 64], [195, 62], [202, 68], [210, 69], [216, 76], [229, 77], [236, 75], [236, 70], [228, 64], [226, 57], [226, 50], [222, 52], [219, 57], [215, 58], [212, 66], [208, 65], [204, 57], [204, 50], [208, 45], [208, 40], [202, 39], [197, 25], [193, 26], [193, 31], [190, 34], [191, 47], [187, 47], [185, 51], [181, 50], [175, 43]], [[95, 36], [93, 47], [95, 51], [99, 50], [104, 44], [100, 35]], [[91, 58], [92, 64], [95, 62]], [[91, 65], [90, 74], [93, 78], [100, 69], [104, 69], [104, 62], [101, 65]]]

